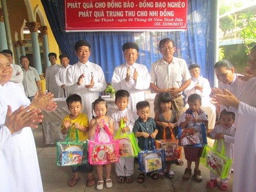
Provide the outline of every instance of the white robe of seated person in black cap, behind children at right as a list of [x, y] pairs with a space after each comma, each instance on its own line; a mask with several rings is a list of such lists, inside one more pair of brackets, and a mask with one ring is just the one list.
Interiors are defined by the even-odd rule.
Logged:
[[[195, 89], [197, 83], [199, 83], [199, 85], [203, 87], [203, 91]], [[186, 95], [186, 102], [189, 95], [197, 93], [198, 95], [201, 96], [202, 103], [207, 103], [210, 101], [210, 96], [209, 96], [211, 93], [210, 83], [208, 79], [203, 78], [201, 76], [199, 76], [198, 78], [192, 77], [191, 82], [189, 86], [184, 90], [184, 93]]]

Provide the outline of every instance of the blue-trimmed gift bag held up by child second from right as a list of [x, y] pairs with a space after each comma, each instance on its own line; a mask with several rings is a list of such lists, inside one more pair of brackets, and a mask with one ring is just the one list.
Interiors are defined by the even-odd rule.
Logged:
[[204, 123], [201, 123], [200, 127], [197, 127], [197, 129], [188, 127], [182, 130], [181, 127], [178, 126], [178, 138], [180, 146], [204, 146], [207, 144]]

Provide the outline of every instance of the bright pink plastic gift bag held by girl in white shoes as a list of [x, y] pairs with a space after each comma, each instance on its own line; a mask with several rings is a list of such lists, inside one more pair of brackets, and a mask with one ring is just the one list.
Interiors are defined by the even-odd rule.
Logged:
[[119, 140], [113, 138], [109, 132], [108, 125], [102, 120], [108, 142], [99, 141], [99, 127], [97, 126], [95, 140], [89, 140], [89, 163], [92, 165], [103, 165], [119, 161]]

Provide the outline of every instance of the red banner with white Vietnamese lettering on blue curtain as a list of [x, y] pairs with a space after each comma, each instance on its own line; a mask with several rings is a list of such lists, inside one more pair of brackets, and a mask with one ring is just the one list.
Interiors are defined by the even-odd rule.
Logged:
[[66, 32], [187, 29], [187, 0], [66, 0]]

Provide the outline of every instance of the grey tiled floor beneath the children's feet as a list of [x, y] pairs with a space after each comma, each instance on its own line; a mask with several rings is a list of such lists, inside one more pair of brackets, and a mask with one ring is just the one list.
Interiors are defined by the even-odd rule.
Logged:
[[[37, 147], [37, 154], [39, 160], [39, 166], [41, 170], [41, 177], [42, 177], [42, 184], [44, 186], [45, 192], [52, 192], [52, 191], [75, 191], [75, 192], [90, 192], [90, 191], [98, 191], [96, 189], [96, 185], [93, 187], [86, 187], [86, 180], [87, 174], [80, 174], [81, 180], [77, 183], [74, 187], [69, 187], [67, 185], [67, 181], [71, 179], [72, 173], [70, 167], [59, 167], [56, 165], [56, 146], [55, 145], [48, 145], [47, 147], [43, 147], [43, 139], [42, 139], [42, 130], [41, 126], [38, 129], [33, 130], [36, 147]], [[212, 144], [212, 140], [209, 140], [209, 143]], [[184, 154], [183, 160], [185, 161]], [[172, 165], [172, 170], [175, 173], [175, 178], [169, 180], [165, 179], [158, 179], [152, 180], [150, 177], [145, 177], [145, 181], [143, 184], [139, 184], [136, 179], [139, 174], [138, 171], [138, 161], [135, 160], [135, 180], [132, 184], [118, 184], [116, 181], [116, 174], [115, 174], [115, 165], [112, 165], [112, 180], [113, 180], [113, 187], [112, 188], [104, 188], [101, 191], [177, 191], [177, 192], [201, 192], [201, 191], [221, 191], [217, 186], [214, 188], [206, 188], [205, 184], [206, 181], [209, 179], [209, 169], [200, 165], [200, 169], [202, 171], [203, 181], [198, 183], [195, 181], [193, 177], [191, 177], [188, 181], [182, 180], [182, 176], [184, 170], [186, 168], [186, 163], [184, 165], [179, 166], [176, 164]], [[104, 169], [103, 169], [104, 170]], [[97, 180], [97, 172], [96, 167], [94, 168], [93, 172], [95, 179]], [[104, 174], [104, 173], [103, 173]], [[229, 189], [228, 191], [232, 191], [232, 174], [231, 179], [229, 181]]]

